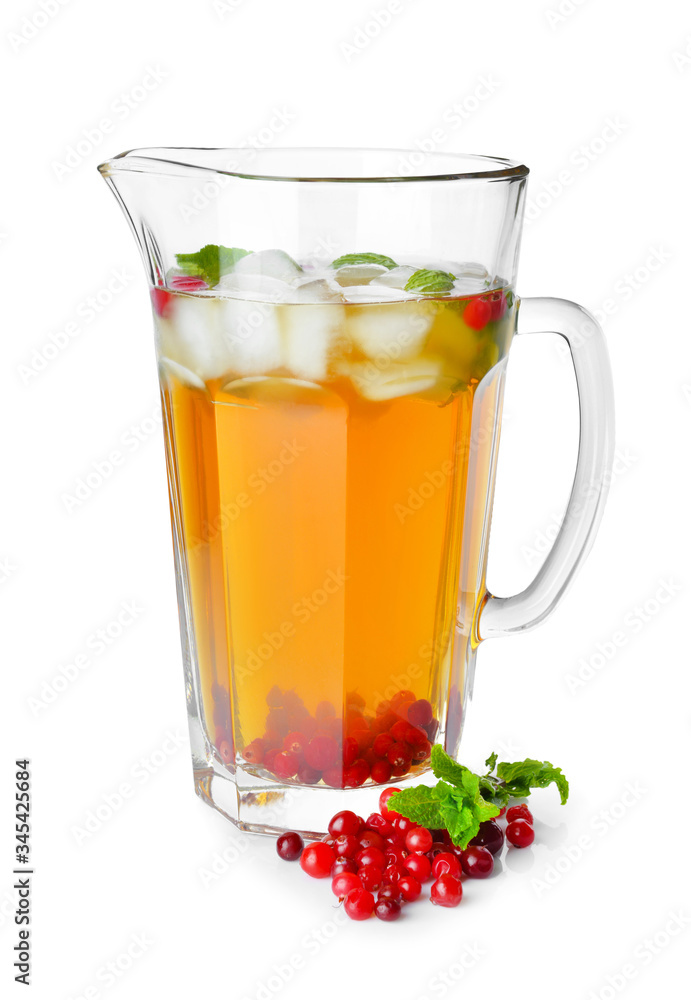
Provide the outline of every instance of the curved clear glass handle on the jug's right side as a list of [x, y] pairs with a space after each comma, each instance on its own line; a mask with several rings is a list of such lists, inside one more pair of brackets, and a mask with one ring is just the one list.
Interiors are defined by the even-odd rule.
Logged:
[[477, 620], [478, 640], [535, 628], [557, 607], [595, 539], [614, 458], [612, 372], [594, 317], [566, 299], [522, 299], [516, 332], [555, 333], [569, 345], [580, 411], [578, 461], [564, 520], [539, 573], [514, 597], [487, 592]]

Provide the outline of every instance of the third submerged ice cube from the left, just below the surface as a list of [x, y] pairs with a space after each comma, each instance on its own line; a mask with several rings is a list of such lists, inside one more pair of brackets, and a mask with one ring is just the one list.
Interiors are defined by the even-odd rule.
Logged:
[[345, 309], [320, 303], [281, 309], [285, 366], [299, 378], [324, 380], [344, 341]]

